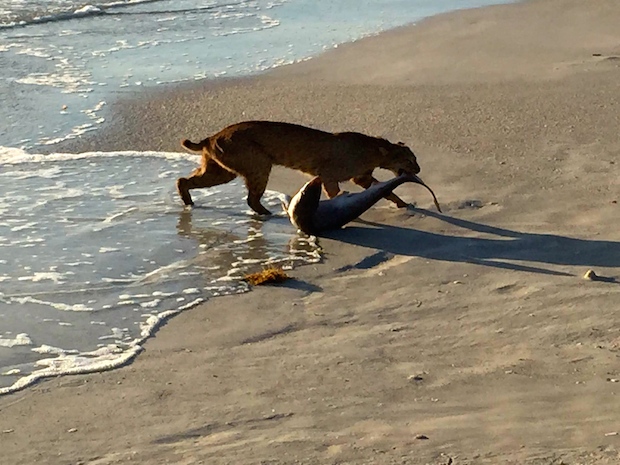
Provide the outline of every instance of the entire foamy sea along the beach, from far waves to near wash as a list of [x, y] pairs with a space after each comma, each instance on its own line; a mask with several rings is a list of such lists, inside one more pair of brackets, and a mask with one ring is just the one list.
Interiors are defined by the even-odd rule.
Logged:
[[[320, 258], [282, 213], [253, 215], [238, 181], [184, 209], [174, 182], [196, 155], [41, 153], [142, 87], [249, 75], [495, 3], [0, 0], [0, 394], [126, 363], [163, 319], [245, 292], [244, 273]], [[279, 212], [280, 194], [264, 203]]]

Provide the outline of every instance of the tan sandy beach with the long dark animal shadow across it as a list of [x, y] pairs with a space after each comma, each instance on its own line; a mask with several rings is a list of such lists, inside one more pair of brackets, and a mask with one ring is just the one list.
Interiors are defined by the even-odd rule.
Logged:
[[617, 0], [456, 12], [117, 105], [73, 149], [253, 118], [362, 131], [408, 143], [445, 214], [402, 186], [421, 210], [380, 203], [289, 284], [0, 398], [0, 462], [620, 463], [619, 24]]

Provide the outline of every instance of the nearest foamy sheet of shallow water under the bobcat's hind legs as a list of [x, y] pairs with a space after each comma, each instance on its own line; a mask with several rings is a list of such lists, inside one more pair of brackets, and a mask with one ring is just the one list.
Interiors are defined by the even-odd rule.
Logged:
[[106, 363], [118, 363], [158, 315], [244, 292], [241, 278], [265, 264], [320, 258], [311, 238], [295, 234], [276, 192], [264, 198], [276, 213], [269, 219], [248, 209], [238, 181], [197, 191], [197, 206], [182, 207], [174, 180], [195, 159], [155, 152], [4, 157], [0, 347], [11, 350], [0, 350], [0, 389], [49, 364], [42, 360], [50, 354], [81, 354], [56, 357], [63, 370], [100, 363], [84, 353], [102, 347]]

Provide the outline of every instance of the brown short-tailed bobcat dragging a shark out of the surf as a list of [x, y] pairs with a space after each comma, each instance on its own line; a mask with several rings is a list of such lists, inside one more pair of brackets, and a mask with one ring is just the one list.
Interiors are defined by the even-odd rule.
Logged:
[[[188, 178], [177, 180], [186, 205], [193, 205], [190, 189], [217, 186], [241, 176], [248, 189], [248, 205], [261, 215], [270, 214], [260, 199], [273, 165], [320, 176], [330, 198], [340, 192], [341, 181], [352, 180], [365, 189], [370, 187], [377, 182], [372, 176], [375, 168], [396, 175], [420, 172], [415, 155], [402, 142], [393, 144], [357, 132], [330, 133], [290, 123], [241, 122], [199, 143], [186, 139], [182, 145], [202, 152], [201, 166]], [[398, 207], [407, 206], [393, 193], [385, 198]]]

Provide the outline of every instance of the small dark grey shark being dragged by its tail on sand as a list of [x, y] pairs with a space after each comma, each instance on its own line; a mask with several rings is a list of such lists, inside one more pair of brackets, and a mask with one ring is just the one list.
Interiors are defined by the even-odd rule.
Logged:
[[329, 200], [320, 200], [322, 182], [315, 177], [299, 189], [288, 205], [284, 204], [284, 209], [294, 226], [306, 234], [317, 236], [323, 231], [340, 229], [406, 182], [426, 187], [441, 212], [433, 191], [415, 174], [401, 174], [389, 181], [373, 184], [362, 192], [343, 193]]

